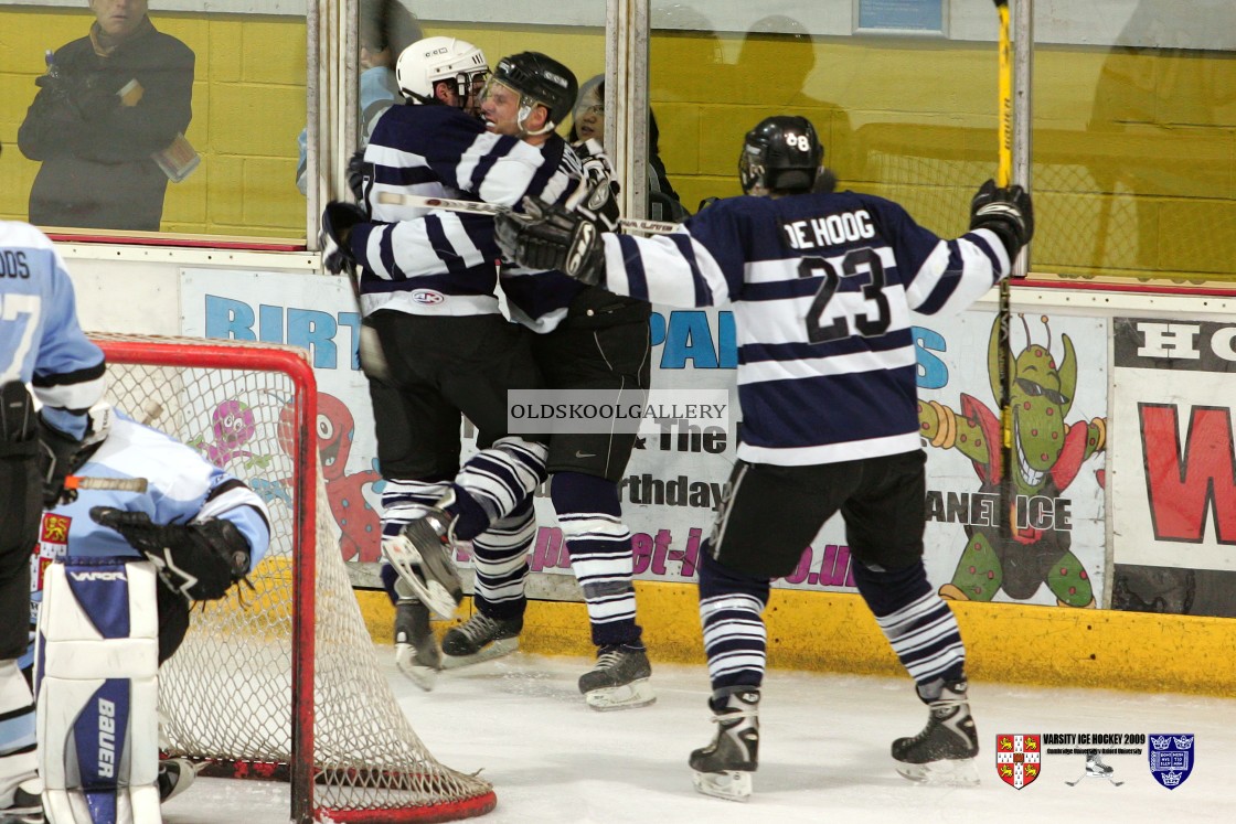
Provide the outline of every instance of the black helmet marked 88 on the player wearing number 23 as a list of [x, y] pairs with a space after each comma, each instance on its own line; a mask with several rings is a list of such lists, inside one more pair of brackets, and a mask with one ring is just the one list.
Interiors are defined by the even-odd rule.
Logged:
[[738, 158], [745, 194], [811, 191], [824, 159], [816, 127], [806, 117], [765, 117], [747, 132]]

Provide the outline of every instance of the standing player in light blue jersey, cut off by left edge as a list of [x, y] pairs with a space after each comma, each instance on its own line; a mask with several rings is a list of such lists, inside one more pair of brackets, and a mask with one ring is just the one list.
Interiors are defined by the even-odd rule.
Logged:
[[[35, 704], [17, 658], [30, 625], [30, 550], [43, 505], [64, 492], [104, 361], [77, 320], [73, 284], [52, 242], [0, 221], [0, 820], [43, 820]], [[35, 400], [42, 403], [36, 414]]]

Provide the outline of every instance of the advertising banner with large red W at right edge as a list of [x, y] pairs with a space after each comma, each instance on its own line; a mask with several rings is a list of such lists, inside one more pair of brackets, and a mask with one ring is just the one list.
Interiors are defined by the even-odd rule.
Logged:
[[1112, 607], [1236, 616], [1236, 322], [1114, 325]]

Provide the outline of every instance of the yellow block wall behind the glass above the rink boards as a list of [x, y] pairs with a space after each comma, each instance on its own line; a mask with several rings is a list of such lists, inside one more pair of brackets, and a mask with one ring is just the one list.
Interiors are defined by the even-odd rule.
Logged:
[[[294, 187], [297, 135], [305, 121], [305, 23], [298, 17], [173, 14], [156, 26], [198, 54], [188, 137], [201, 168], [168, 188], [166, 231], [303, 237], [304, 199]], [[23, 217], [37, 163], [14, 146], [43, 49], [85, 33], [88, 10], [0, 7], [0, 217]], [[535, 25], [423, 21], [429, 35], [481, 46], [491, 61], [544, 51], [586, 79], [603, 70], [601, 28], [562, 32]], [[1114, 233], [1138, 236], [1136, 256], [1109, 248], [1111, 274], [1230, 279], [1236, 258], [1236, 59], [1221, 52], [1112, 51], [1039, 46], [1035, 52], [1035, 126], [1064, 135], [1053, 168], [1035, 173], [1037, 271], [1068, 272], [1089, 261], [1084, 241], [1111, 217]], [[821, 130], [826, 161], [843, 185], [892, 196], [905, 187], [943, 187], [952, 196], [915, 217], [941, 233], [964, 231], [965, 205], [986, 166], [931, 182], [917, 172], [889, 187], [865, 166], [865, 128], [913, 145], [923, 128], [968, 130], [993, 147], [994, 43], [887, 37], [784, 37], [658, 31], [650, 42], [650, 99], [660, 149], [684, 204], [738, 194], [735, 164], [745, 131], [792, 111]], [[985, 137], [990, 133], [990, 140]], [[1077, 135], [1074, 145], [1074, 137]], [[1037, 141], [1036, 148], [1052, 146]], [[1079, 153], [1073, 175], [1059, 154]], [[1096, 151], [1098, 149], [1098, 151]], [[974, 179], [970, 179], [974, 178]], [[1111, 194], [1116, 193], [1116, 194]], [[1136, 214], [1130, 205], [1136, 196]], [[1115, 215], [1093, 208], [1110, 198]], [[1127, 212], [1127, 214], [1126, 214]], [[954, 231], [955, 230], [955, 231]], [[1109, 246], [1115, 247], [1116, 241]], [[1127, 243], [1126, 243], [1127, 246]]]

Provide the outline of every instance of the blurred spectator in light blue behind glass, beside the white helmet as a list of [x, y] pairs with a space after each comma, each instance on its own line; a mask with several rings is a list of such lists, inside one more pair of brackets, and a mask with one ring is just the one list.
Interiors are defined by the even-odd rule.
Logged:
[[[361, 44], [361, 140], [357, 148], [370, 142], [370, 131], [378, 115], [391, 104], [400, 100], [399, 84], [394, 79], [394, 63], [403, 49], [421, 40], [420, 23], [399, 0], [361, 0], [358, 20]], [[297, 162], [297, 189], [308, 194], [309, 132], [300, 130], [297, 137], [300, 159]]]

